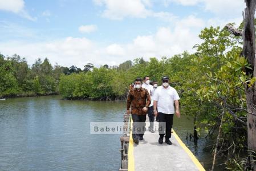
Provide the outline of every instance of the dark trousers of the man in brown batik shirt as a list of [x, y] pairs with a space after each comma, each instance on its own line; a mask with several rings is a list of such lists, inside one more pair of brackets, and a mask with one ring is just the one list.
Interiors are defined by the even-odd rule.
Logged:
[[146, 115], [132, 114], [132, 121], [132, 138], [139, 139], [139, 137], [143, 137], [146, 129]]

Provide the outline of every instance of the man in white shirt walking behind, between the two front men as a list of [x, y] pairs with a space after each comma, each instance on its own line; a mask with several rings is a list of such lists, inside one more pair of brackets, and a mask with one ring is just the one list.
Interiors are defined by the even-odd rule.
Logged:
[[149, 76], [144, 76], [143, 84], [141, 87], [147, 89], [149, 95], [151, 96], [151, 104], [149, 105], [149, 108], [148, 108], [148, 119], [149, 119], [149, 123], [150, 123], [148, 130], [153, 133], [153, 132], [155, 132], [153, 129], [154, 128], [154, 120], [155, 120], [154, 107], [153, 107], [153, 95], [154, 95], [155, 89], [149, 83], [150, 83]]

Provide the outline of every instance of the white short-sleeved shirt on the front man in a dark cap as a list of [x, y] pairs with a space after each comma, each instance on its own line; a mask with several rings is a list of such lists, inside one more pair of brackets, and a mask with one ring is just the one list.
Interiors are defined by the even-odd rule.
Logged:
[[180, 100], [175, 88], [159, 86], [156, 89], [154, 100], [157, 101], [157, 112], [174, 114], [174, 100]]

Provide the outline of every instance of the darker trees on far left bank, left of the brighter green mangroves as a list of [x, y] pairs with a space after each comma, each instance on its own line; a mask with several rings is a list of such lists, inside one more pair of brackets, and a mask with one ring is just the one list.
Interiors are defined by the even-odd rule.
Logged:
[[[53, 95], [59, 93], [59, 76], [64, 67], [37, 59], [31, 67], [19, 55], [0, 54], [0, 97]], [[68, 68], [67, 68], [68, 70]]]

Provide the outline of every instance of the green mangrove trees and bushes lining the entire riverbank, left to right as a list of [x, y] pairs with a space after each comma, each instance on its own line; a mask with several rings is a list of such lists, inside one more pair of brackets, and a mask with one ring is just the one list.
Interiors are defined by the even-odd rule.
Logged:
[[[149, 61], [137, 58], [119, 66], [94, 67], [88, 63], [81, 70], [52, 67], [47, 59], [38, 59], [30, 68], [17, 55], [0, 56], [0, 96], [60, 92], [66, 99], [125, 100], [129, 84], [137, 76], [148, 75], [160, 85], [161, 76], [167, 75], [181, 97], [183, 114], [194, 117], [192, 139], [214, 140], [210, 145], [213, 168], [215, 158], [221, 156], [226, 169], [250, 170], [250, 162], [255, 161], [248, 156], [256, 154], [247, 154], [246, 87], [253, 87], [256, 78], [250, 74], [251, 64], [241, 55], [242, 37], [230, 32], [233, 25], [204, 28], [193, 54], [185, 51]], [[242, 28], [243, 23], [238, 31]], [[200, 136], [202, 130], [205, 137]]]

